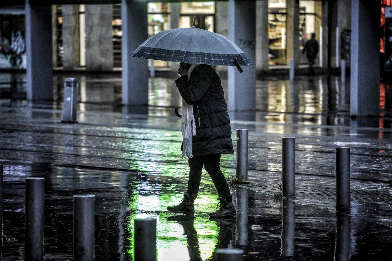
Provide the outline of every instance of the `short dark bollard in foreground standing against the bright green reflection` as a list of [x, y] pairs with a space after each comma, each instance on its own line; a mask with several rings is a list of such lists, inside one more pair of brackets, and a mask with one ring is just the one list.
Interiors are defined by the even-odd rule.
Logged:
[[135, 219], [135, 261], [156, 261], [156, 219]]

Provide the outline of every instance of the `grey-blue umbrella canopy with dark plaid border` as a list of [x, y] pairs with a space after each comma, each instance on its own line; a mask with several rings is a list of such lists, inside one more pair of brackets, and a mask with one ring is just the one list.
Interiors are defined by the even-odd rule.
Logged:
[[131, 56], [237, 67], [252, 64], [229, 38], [196, 27], [158, 32], [142, 43]]

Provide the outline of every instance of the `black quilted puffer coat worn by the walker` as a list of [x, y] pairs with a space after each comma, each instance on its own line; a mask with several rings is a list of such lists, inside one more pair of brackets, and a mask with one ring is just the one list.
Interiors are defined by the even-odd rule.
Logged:
[[223, 88], [211, 65], [197, 66], [189, 81], [184, 75], [176, 80], [176, 84], [185, 102], [193, 105], [196, 120], [196, 135], [192, 137], [193, 155], [234, 153]]

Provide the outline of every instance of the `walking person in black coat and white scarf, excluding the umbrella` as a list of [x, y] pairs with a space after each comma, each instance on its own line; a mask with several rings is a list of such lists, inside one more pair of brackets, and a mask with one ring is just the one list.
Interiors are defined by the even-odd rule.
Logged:
[[189, 181], [182, 202], [167, 210], [193, 214], [203, 166], [218, 191], [220, 208], [211, 217], [234, 216], [236, 209], [226, 178], [220, 169], [221, 154], [234, 153], [229, 113], [220, 78], [211, 65], [180, 63], [176, 80], [183, 98], [182, 156], [189, 157]]

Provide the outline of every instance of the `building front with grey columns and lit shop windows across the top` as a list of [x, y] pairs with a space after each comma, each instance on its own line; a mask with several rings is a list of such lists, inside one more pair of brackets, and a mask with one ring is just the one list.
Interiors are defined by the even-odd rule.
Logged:
[[[23, 69], [25, 55], [29, 100], [53, 100], [53, 68], [121, 69], [123, 104], [147, 106], [148, 66], [151, 72], [175, 72], [178, 63], [148, 65], [147, 60], [132, 59], [132, 52], [149, 35], [191, 26], [195, 16], [195, 26], [228, 36], [253, 62], [241, 74], [233, 67], [216, 67], [227, 70], [229, 110], [241, 112], [255, 109], [257, 74], [289, 61], [298, 68], [304, 63], [301, 47], [315, 32], [321, 46], [316, 62], [322, 68], [339, 68], [345, 60], [350, 67], [351, 115], [379, 114], [380, 75], [387, 63], [388, 70], [392, 68], [392, 38], [385, 37], [392, 31], [390, 0], [173, 1], [7, 2], [0, 6], [0, 60]], [[236, 92], [238, 86], [247, 92]]]

